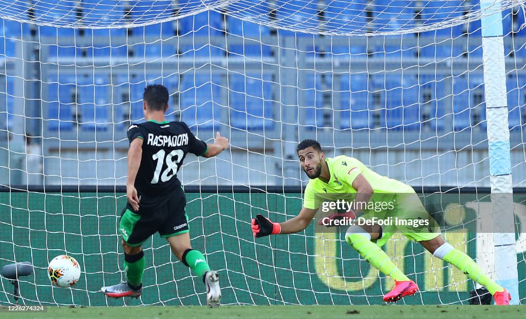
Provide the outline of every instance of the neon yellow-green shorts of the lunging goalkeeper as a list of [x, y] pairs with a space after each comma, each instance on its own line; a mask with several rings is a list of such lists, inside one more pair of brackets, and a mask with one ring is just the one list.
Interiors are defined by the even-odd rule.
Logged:
[[416, 193], [404, 194], [398, 199], [395, 208], [383, 212], [369, 212], [359, 218], [371, 220], [375, 217], [381, 228], [380, 238], [373, 240], [381, 247], [397, 231], [413, 242], [427, 241], [441, 234], [440, 226], [424, 208]]

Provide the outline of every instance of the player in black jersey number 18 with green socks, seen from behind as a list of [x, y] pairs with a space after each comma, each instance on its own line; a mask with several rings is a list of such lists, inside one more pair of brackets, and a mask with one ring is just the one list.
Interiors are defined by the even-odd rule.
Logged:
[[218, 132], [214, 144], [207, 144], [195, 137], [184, 122], [168, 122], [168, 98], [166, 87], [147, 86], [143, 94], [146, 122], [128, 128], [128, 204], [119, 221], [127, 281], [102, 287], [102, 291], [114, 298], [140, 296], [145, 267], [141, 245], [159, 232], [177, 258], [203, 278], [207, 304], [217, 307], [221, 299], [219, 275], [190, 245], [185, 192], [177, 171], [187, 153], [213, 157], [228, 147], [228, 140]]

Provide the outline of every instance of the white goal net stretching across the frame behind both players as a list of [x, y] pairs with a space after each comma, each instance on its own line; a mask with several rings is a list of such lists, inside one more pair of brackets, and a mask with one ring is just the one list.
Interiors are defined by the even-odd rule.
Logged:
[[[328, 157], [355, 157], [413, 186], [444, 237], [494, 276], [492, 234], [477, 231], [499, 175], [490, 171], [481, 20], [502, 17], [501, 128], [520, 188], [525, 10], [518, 0], [0, 0], [0, 265], [34, 265], [19, 302], [206, 303], [201, 279], [157, 234], [143, 246], [140, 299], [99, 291], [124, 278], [126, 129], [144, 120], [149, 84], [168, 88], [169, 120], [231, 143], [217, 158], [188, 156], [178, 172], [191, 243], [218, 270], [224, 304], [379, 304], [390, 290], [341, 233], [311, 225], [253, 238], [256, 214], [281, 222], [301, 209], [308, 178], [295, 147], [307, 138]], [[513, 197], [519, 301], [525, 200]], [[420, 287], [401, 303], [469, 303], [473, 282], [420, 245], [395, 235], [384, 249]], [[60, 254], [82, 268], [70, 289], [47, 278]], [[0, 282], [0, 305], [12, 303], [13, 286]]]

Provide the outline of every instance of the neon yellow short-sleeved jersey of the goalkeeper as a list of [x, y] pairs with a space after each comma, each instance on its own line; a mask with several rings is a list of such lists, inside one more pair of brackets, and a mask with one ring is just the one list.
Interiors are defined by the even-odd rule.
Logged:
[[[309, 181], [303, 200], [305, 208], [318, 209], [323, 200], [352, 200], [352, 194], [356, 194], [356, 190], [352, 188], [352, 182], [359, 174], [363, 174], [375, 192], [370, 201], [385, 200], [389, 194], [414, 193], [413, 188], [409, 185], [373, 172], [356, 158], [340, 155], [326, 158], [325, 161], [329, 167], [331, 179], [328, 183], [319, 178]], [[349, 194], [349, 198], [343, 194]]]

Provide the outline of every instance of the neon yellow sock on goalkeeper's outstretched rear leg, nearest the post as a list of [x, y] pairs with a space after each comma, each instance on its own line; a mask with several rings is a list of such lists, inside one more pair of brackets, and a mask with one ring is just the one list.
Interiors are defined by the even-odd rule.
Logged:
[[492, 295], [497, 291], [504, 291], [501, 286], [492, 281], [491, 278], [482, 271], [470, 256], [454, 249], [450, 244], [443, 244], [433, 255], [457, 267], [461, 272], [466, 274], [469, 279], [485, 286]]

